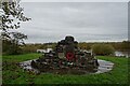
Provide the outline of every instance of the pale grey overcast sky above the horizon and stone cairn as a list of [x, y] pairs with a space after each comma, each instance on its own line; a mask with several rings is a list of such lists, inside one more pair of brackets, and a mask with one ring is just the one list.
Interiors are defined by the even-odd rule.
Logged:
[[57, 42], [74, 35], [78, 42], [123, 41], [128, 38], [127, 2], [22, 2], [30, 22], [22, 23], [26, 42]]

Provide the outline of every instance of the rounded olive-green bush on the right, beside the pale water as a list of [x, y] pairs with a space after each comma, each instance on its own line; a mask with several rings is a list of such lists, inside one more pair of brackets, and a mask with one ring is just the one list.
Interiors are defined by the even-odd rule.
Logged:
[[95, 55], [113, 55], [115, 49], [109, 44], [94, 44], [92, 46], [92, 52]]

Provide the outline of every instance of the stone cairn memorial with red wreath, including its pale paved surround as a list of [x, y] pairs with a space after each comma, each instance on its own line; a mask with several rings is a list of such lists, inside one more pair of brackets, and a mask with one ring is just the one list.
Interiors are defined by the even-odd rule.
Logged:
[[68, 35], [57, 42], [53, 51], [20, 66], [35, 73], [90, 74], [108, 72], [114, 63], [96, 59], [91, 52], [80, 49], [74, 37]]

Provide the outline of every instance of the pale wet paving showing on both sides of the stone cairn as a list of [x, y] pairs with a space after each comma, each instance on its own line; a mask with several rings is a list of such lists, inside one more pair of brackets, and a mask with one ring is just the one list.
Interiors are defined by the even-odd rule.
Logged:
[[[32, 59], [32, 60], [36, 61], [36, 59]], [[27, 61], [20, 62], [20, 67], [23, 68], [24, 70], [29, 71], [29, 72], [35, 72], [36, 74], [40, 73], [40, 71], [38, 71], [37, 69], [34, 69], [30, 66], [30, 63], [31, 63], [32, 60], [27, 60]], [[99, 62], [100, 66], [98, 68], [98, 71], [94, 72], [94, 74], [105, 73], [105, 72], [110, 71], [114, 68], [114, 63], [110, 62], [110, 61], [98, 59], [98, 62]]]

